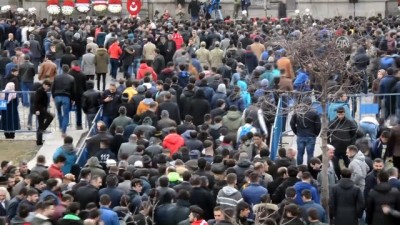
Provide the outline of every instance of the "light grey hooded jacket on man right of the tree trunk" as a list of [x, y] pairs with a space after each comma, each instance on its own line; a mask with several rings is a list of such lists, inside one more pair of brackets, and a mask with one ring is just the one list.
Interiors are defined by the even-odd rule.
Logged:
[[368, 174], [369, 167], [365, 162], [365, 156], [361, 151], [358, 151], [351, 159], [349, 170], [351, 170], [351, 180], [361, 189], [361, 191], [364, 191], [365, 177]]

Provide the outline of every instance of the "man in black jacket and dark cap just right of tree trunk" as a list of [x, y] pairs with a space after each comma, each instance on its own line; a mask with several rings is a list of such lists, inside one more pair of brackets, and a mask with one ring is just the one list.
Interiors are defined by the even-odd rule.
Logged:
[[329, 123], [328, 140], [329, 144], [335, 147], [337, 160], [343, 159], [345, 166], [348, 166], [350, 162], [346, 156], [346, 149], [347, 146], [355, 144], [357, 124], [345, 117], [344, 107], [338, 107], [336, 113], [336, 118]]

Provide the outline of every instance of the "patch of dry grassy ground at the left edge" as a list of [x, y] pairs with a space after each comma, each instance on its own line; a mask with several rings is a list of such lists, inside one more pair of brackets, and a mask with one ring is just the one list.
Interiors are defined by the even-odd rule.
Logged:
[[12, 161], [15, 165], [23, 160], [29, 161], [39, 149], [34, 140], [0, 140], [0, 161]]

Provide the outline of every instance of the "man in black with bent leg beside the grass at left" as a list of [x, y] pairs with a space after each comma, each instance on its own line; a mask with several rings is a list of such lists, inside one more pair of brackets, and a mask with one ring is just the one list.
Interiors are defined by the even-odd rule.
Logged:
[[47, 91], [50, 90], [51, 83], [48, 80], [43, 81], [42, 87], [35, 93], [34, 111], [38, 117], [38, 129], [36, 131], [36, 144], [43, 144], [43, 132], [49, 127], [54, 119], [54, 115], [47, 111], [49, 107], [49, 96]]

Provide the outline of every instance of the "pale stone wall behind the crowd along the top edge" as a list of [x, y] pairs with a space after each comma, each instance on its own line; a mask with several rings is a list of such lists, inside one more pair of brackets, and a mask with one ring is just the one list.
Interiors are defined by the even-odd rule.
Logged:
[[[18, 0], [0, 0], [0, 5], [15, 4], [17, 1]], [[189, 2], [190, 0], [186, 1]], [[38, 16], [46, 17], [48, 16], [46, 11], [46, 2], [46, 0], [23, 0], [23, 5], [24, 8], [36, 7]], [[60, 2], [62, 2], [62, 0], [60, 0]], [[121, 13], [121, 15], [126, 15], [126, 0], [122, 0], [122, 2], [123, 12]], [[174, 15], [177, 11], [175, 0], [143, 0], [142, 2], [142, 17], [148, 16], [149, 14], [153, 15], [155, 10], [162, 12], [164, 9], [168, 9], [172, 15]], [[389, 5], [391, 6], [391, 14], [395, 14], [396, 10], [392, 9], [392, 6], [394, 4], [389, 4], [392, 2], [396, 1], [390, 0], [388, 2], [388, 0], [359, 0], [359, 2], [355, 4], [355, 10], [354, 5], [352, 3], [349, 3], [349, 0], [297, 0], [297, 3], [295, 5], [297, 5], [296, 8], [299, 9], [301, 12], [304, 12], [306, 8], [309, 8], [315, 18], [326, 18], [334, 16], [347, 17], [353, 14], [355, 14], [356, 16], [373, 16], [377, 13], [386, 15]], [[223, 16], [227, 16], [228, 14], [232, 15], [232, 3], [233, 0], [221, 1]], [[187, 8], [185, 9], [185, 13], [187, 13]], [[251, 17], [263, 17], [265, 15], [276, 16], [277, 5], [271, 5], [271, 8], [266, 12], [264, 10], [264, 0], [252, 0], [252, 6], [250, 6], [249, 13]], [[288, 15], [291, 14], [293, 14], [293, 11], [288, 12]], [[92, 15], [92, 13], [89, 13], [89, 15]]]

